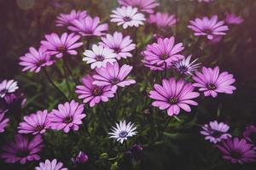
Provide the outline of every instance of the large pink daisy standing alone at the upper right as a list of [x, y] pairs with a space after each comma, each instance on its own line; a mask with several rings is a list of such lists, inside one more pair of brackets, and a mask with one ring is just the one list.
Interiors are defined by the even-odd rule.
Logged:
[[189, 23], [188, 27], [195, 31], [195, 36], [206, 36], [209, 40], [212, 40], [214, 36], [226, 35], [225, 31], [229, 30], [228, 26], [224, 26], [224, 20], [218, 21], [217, 15], [213, 15], [210, 19], [208, 17], [196, 18], [190, 20]]

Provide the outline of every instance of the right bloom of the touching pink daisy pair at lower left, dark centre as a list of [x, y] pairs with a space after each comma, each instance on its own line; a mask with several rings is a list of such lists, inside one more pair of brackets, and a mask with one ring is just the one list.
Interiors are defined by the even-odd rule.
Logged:
[[50, 127], [55, 130], [63, 129], [65, 133], [71, 129], [78, 131], [85, 116], [84, 105], [79, 105], [78, 102], [72, 100], [58, 105], [58, 110], [54, 109], [49, 113]]

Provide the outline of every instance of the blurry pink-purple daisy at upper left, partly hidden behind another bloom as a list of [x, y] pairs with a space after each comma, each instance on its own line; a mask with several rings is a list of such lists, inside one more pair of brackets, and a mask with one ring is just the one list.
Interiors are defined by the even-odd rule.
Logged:
[[56, 26], [68, 26], [73, 20], [83, 20], [88, 16], [87, 11], [72, 10], [69, 14], [60, 14], [56, 20]]

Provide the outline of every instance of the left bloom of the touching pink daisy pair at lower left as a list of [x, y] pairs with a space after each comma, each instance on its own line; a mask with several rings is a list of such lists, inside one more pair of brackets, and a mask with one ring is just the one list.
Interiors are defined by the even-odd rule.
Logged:
[[20, 122], [19, 133], [42, 134], [49, 128], [48, 111], [37, 111], [30, 116], [24, 116], [24, 122]]

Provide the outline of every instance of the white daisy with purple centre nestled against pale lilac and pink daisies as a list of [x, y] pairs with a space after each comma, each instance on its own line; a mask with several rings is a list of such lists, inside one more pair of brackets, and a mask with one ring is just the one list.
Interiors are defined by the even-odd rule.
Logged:
[[97, 46], [96, 44], [92, 45], [92, 50], [85, 50], [84, 55], [83, 61], [90, 64], [91, 69], [106, 66], [107, 63], [114, 63], [117, 56], [113, 53], [113, 49]]

